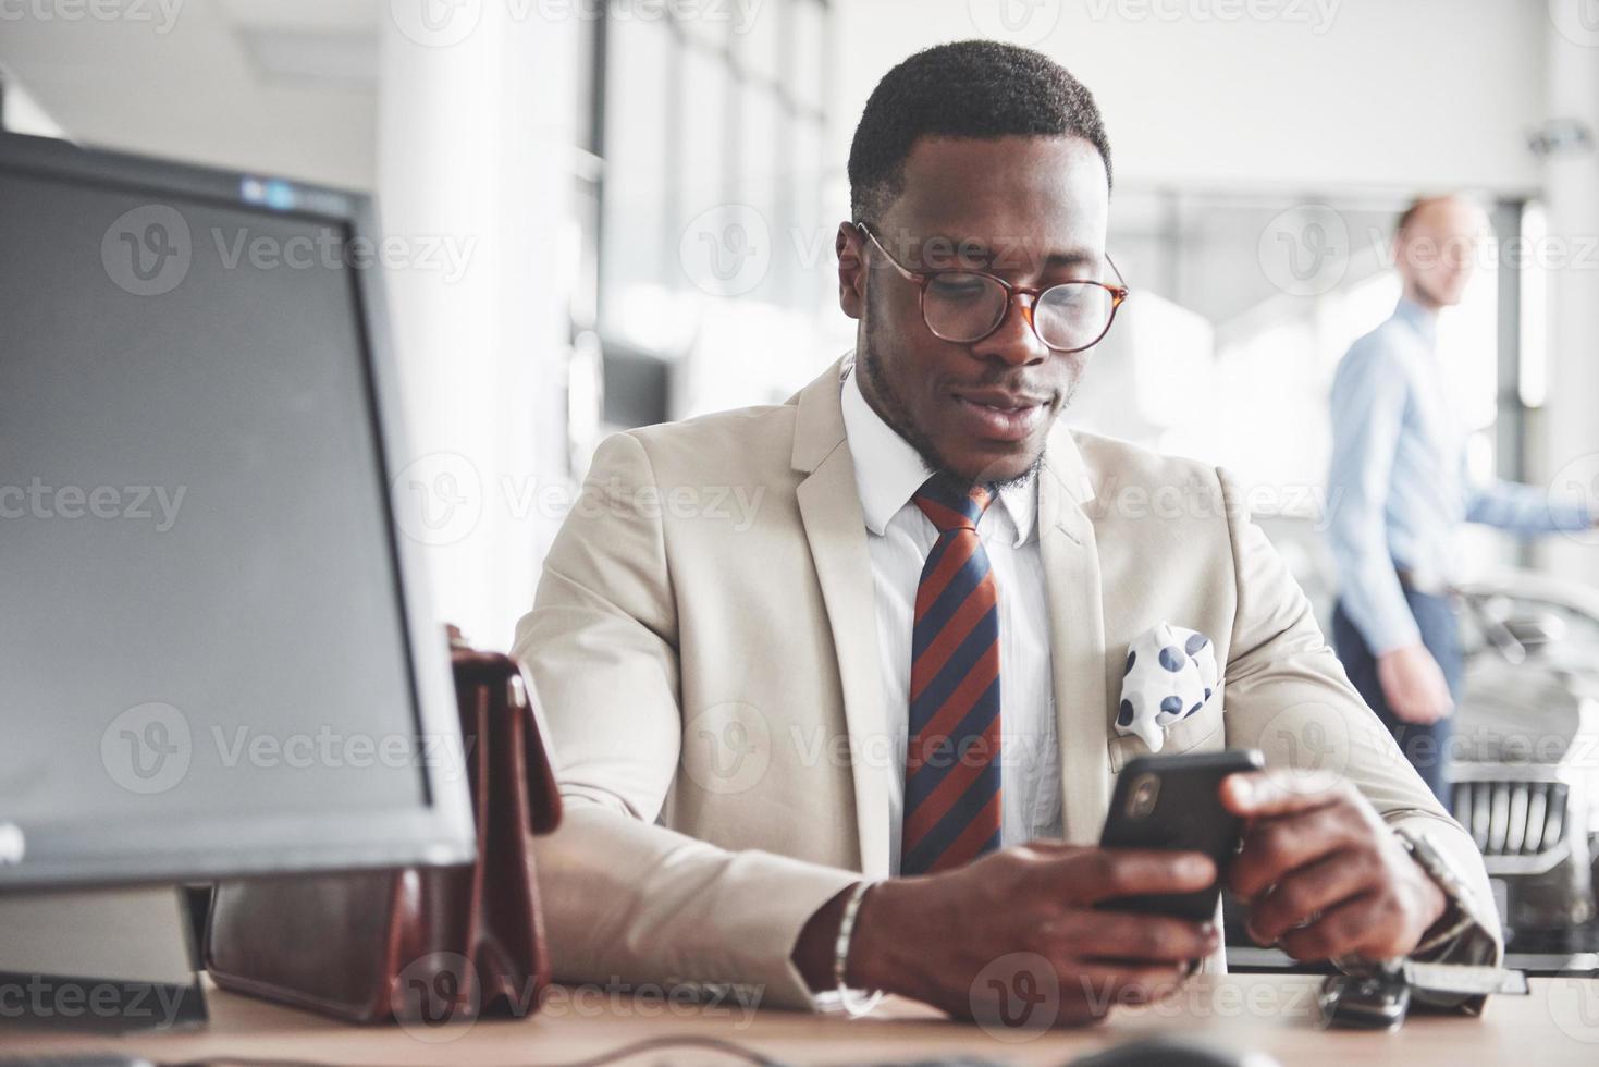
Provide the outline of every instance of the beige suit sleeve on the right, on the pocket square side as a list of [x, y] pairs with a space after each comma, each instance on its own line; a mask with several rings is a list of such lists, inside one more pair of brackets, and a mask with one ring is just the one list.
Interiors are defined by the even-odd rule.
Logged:
[[[1417, 958], [1498, 963], [1503, 936], [1482, 854], [1350, 685], [1305, 593], [1260, 526], [1249, 520], [1242, 494], [1225, 472], [1218, 477], [1238, 582], [1225, 675], [1228, 745], [1260, 749], [1268, 766], [1298, 771], [1306, 790], [1319, 792], [1346, 779], [1396, 833], [1425, 837], [1463, 888], [1460, 894], [1450, 893], [1450, 899], [1471, 923]], [[1482, 998], [1447, 1003], [1479, 1009]]]

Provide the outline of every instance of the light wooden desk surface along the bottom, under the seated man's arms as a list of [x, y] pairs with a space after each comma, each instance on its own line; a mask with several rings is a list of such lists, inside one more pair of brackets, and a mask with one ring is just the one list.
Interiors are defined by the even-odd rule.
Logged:
[[[229, 1057], [323, 1064], [561, 1064], [598, 1057], [644, 1038], [715, 1037], [795, 1064], [894, 1062], [932, 1056], [983, 1056], [1009, 1064], [1063, 1064], [1095, 1049], [1154, 1033], [1186, 1033], [1238, 1051], [1298, 1064], [1599, 1064], [1599, 981], [1533, 979], [1529, 997], [1495, 997], [1477, 1017], [1412, 1016], [1394, 1033], [1316, 1030], [1311, 976], [1199, 977], [1166, 1005], [1119, 1008], [1087, 1030], [1009, 1032], [889, 1001], [867, 1019], [752, 1013], [736, 1005], [691, 1006], [603, 989], [552, 990], [545, 1009], [524, 1021], [469, 1025], [352, 1027], [320, 1016], [211, 990], [211, 1025], [189, 1033], [82, 1037], [0, 1022], [0, 1056], [120, 1051], [160, 1061]], [[1020, 1040], [1017, 1040], [1020, 1038]], [[737, 1064], [707, 1048], [662, 1049], [619, 1061]]]

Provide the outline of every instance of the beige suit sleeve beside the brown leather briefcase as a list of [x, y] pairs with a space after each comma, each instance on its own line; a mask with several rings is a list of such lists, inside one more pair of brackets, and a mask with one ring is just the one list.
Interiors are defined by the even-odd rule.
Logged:
[[860, 875], [657, 825], [683, 741], [657, 493], [644, 445], [606, 440], [516, 625], [566, 809], [536, 843], [552, 966], [564, 981], [704, 982], [814, 1008], [788, 957]]

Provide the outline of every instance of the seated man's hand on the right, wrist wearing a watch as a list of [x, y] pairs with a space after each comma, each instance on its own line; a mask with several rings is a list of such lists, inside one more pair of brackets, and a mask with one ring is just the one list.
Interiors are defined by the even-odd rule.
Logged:
[[1353, 785], [1302, 782], [1284, 771], [1222, 782], [1222, 803], [1246, 819], [1228, 883], [1249, 934], [1295, 960], [1409, 955], [1444, 915], [1444, 891]]

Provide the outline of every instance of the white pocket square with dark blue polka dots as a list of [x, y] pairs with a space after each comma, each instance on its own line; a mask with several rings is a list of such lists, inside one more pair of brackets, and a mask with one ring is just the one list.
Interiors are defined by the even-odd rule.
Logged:
[[1166, 728], [1204, 707], [1218, 683], [1209, 637], [1170, 622], [1150, 627], [1127, 646], [1116, 733], [1159, 752]]

